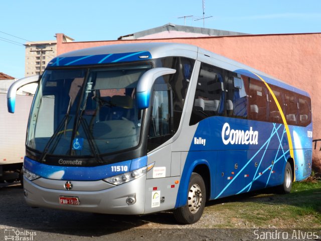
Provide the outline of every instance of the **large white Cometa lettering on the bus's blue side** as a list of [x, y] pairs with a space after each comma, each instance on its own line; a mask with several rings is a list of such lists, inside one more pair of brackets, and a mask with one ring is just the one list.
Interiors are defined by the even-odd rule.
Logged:
[[249, 131], [234, 130], [230, 128], [228, 123], [225, 123], [222, 129], [222, 141], [225, 145], [228, 144], [242, 144], [242, 145], [257, 145], [259, 133], [252, 130], [250, 127]]

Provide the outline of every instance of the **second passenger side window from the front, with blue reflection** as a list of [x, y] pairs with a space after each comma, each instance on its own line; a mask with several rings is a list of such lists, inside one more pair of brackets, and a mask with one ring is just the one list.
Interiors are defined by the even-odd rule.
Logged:
[[227, 116], [247, 118], [249, 93], [248, 77], [226, 71], [225, 89]]

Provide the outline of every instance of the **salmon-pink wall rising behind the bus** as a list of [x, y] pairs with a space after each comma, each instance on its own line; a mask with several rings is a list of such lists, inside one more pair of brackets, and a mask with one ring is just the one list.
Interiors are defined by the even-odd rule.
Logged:
[[313, 142], [313, 167], [321, 173], [321, 113], [318, 112], [318, 103], [321, 102], [321, 33], [71, 43], [62, 43], [62, 35], [57, 34], [57, 54], [88, 47], [133, 42], [193, 44], [259, 69], [307, 91], [312, 101], [313, 140], [320, 139]]

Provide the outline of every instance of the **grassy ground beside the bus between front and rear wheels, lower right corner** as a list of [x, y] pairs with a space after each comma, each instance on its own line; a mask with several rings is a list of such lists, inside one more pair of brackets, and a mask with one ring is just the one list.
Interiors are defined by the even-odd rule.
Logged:
[[321, 181], [295, 182], [286, 195], [262, 191], [220, 199], [209, 211], [221, 220], [213, 227], [321, 228]]

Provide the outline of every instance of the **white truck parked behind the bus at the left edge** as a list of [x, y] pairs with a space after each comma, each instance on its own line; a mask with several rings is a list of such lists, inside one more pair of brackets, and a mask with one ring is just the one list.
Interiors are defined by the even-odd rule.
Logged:
[[33, 95], [17, 95], [17, 108], [9, 113], [7, 93], [0, 93], [0, 183], [20, 180], [25, 156], [26, 131]]

